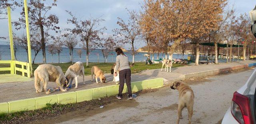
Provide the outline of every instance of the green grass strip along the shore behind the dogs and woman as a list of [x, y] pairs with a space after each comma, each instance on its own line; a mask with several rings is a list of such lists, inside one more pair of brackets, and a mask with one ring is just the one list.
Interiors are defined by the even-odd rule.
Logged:
[[[114, 63], [89, 63], [89, 66], [86, 67], [86, 63], [84, 63], [84, 73], [85, 75], [90, 75], [91, 74], [91, 68], [92, 66], [98, 66], [103, 72], [106, 73], [111, 73], [110, 69], [112, 67]], [[38, 65], [40, 64], [33, 64], [33, 71], [36, 70], [36, 68], [38, 67]], [[66, 70], [68, 69], [68, 67], [70, 65], [72, 65], [72, 63], [52, 63], [52, 65], [55, 66], [60, 66], [62, 68], [62, 71], [64, 73], [66, 73]], [[1, 67], [10, 67], [10, 65], [1, 65]], [[184, 64], [172, 64], [173, 67], [181, 67], [184, 66]], [[131, 71], [132, 73], [139, 73], [143, 70], [147, 70], [147, 69], [160, 69], [162, 67], [162, 63], [159, 64], [153, 64], [153, 65], [146, 65], [144, 62], [138, 62], [135, 63], [134, 67], [131, 67]], [[0, 71], [0, 74], [8, 74], [10, 73], [10, 71]], [[17, 74], [21, 74], [18, 73]]]

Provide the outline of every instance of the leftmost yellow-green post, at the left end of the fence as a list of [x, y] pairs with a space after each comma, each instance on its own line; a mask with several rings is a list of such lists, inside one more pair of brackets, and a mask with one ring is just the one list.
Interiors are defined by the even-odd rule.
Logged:
[[11, 20], [11, 8], [10, 8], [10, 6], [7, 7], [7, 14], [8, 14], [9, 37], [10, 37], [10, 51], [11, 51], [11, 59], [12, 59], [12, 61], [10, 61], [10, 67], [11, 67], [11, 74], [14, 74], [13, 61], [15, 60], [15, 57], [14, 57], [14, 49], [13, 49], [12, 20]]

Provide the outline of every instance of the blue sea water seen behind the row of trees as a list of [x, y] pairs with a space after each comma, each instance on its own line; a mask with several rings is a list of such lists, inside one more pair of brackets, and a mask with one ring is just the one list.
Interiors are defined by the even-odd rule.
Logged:
[[[73, 50], [73, 58], [74, 62], [80, 61], [80, 57], [78, 53], [76, 52], [78, 49], [81, 48], [74, 48]], [[132, 62], [132, 52], [124, 52], [128, 56], [128, 59], [130, 62]], [[35, 52], [32, 50], [32, 61], [35, 56]], [[113, 55], [112, 55], [113, 54]], [[147, 57], [144, 56], [145, 53], [136, 53], [134, 57], [135, 62], [144, 62], [146, 61]], [[151, 59], [152, 59], [152, 54], [151, 54]], [[28, 61], [27, 53], [25, 49], [22, 49], [22, 47], [17, 46], [17, 51], [16, 51], [16, 57], [18, 61]], [[160, 53], [159, 58], [165, 57], [165, 54]], [[154, 59], [157, 58], [157, 53], [154, 54]], [[182, 54], [173, 54], [173, 58], [176, 59], [182, 59]], [[184, 55], [184, 59], [187, 59], [188, 55]], [[0, 59], [1, 60], [10, 60], [11, 59], [11, 54], [10, 54], [10, 45], [0, 45]], [[102, 51], [100, 49], [95, 49], [94, 51], [91, 51], [89, 54], [89, 62], [104, 62], [104, 58], [102, 55]], [[43, 57], [42, 57], [42, 51], [38, 53], [38, 55], [35, 58], [35, 63], [42, 63]], [[115, 62], [116, 61], [116, 52], [111, 51], [110, 55], [108, 55], [108, 59], [105, 58], [106, 62]], [[46, 62], [47, 63], [52, 63], [52, 55], [48, 52], [48, 48], [46, 47]], [[67, 47], [62, 48], [62, 52], [60, 53], [60, 63], [67, 63], [70, 62], [70, 55], [69, 55], [69, 49]], [[81, 57], [81, 62], [86, 62], [86, 51], [82, 49], [82, 57]], [[58, 54], [53, 55], [53, 63], [58, 63]]]

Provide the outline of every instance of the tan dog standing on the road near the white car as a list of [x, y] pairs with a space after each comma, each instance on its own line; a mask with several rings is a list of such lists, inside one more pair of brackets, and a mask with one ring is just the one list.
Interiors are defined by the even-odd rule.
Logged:
[[178, 118], [176, 124], [179, 124], [182, 119], [182, 109], [186, 106], [188, 108], [188, 124], [191, 124], [191, 118], [193, 115], [194, 106], [194, 92], [182, 81], [176, 81], [171, 85], [171, 89], [177, 89], [179, 92], [179, 103], [178, 103]]

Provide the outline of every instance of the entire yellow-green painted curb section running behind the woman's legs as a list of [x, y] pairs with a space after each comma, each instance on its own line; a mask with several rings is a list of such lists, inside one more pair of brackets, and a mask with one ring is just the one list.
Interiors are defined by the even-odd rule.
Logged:
[[[153, 89], [162, 87], [164, 85], [163, 78], [149, 79], [144, 81], [132, 82], [132, 91], [139, 91], [142, 89]], [[93, 89], [86, 89], [81, 91], [73, 91], [68, 93], [54, 94], [49, 96], [42, 96], [36, 98], [28, 98], [22, 100], [15, 100], [10, 102], [0, 103], [0, 112], [12, 113], [24, 110], [35, 110], [43, 108], [47, 103], [54, 104], [68, 104], [92, 99], [98, 99], [106, 96], [113, 96], [118, 94], [119, 85], [111, 85], [106, 87], [98, 87]], [[127, 93], [125, 85], [123, 93]]]

